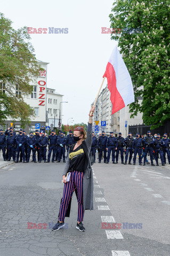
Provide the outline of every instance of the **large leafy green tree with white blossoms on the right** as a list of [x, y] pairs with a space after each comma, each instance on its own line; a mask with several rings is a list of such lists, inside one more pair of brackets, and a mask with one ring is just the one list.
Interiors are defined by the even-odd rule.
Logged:
[[111, 28], [117, 29], [111, 39], [118, 41], [134, 86], [131, 117], [140, 111], [143, 122], [157, 128], [170, 119], [169, 1], [118, 0], [112, 12]]

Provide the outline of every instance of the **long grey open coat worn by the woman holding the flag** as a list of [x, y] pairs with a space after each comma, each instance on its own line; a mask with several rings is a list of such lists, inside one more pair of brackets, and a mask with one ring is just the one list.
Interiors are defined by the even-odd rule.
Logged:
[[[84, 153], [86, 154], [86, 158], [88, 160], [87, 168], [84, 172], [84, 178], [83, 178], [84, 210], [93, 210], [93, 171], [90, 163], [91, 145], [92, 145], [92, 124], [88, 123], [87, 137], [86, 137], [86, 140], [82, 142], [82, 147], [83, 147]], [[69, 160], [69, 153], [68, 153], [63, 175], [67, 175], [67, 172], [69, 171], [69, 166], [70, 166], [70, 160]]]

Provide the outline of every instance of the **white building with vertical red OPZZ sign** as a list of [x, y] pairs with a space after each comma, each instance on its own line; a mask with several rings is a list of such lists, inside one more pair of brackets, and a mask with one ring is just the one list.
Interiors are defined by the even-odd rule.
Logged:
[[[36, 130], [36, 124], [39, 124], [38, 130], [45, 129], [46, 126], [56, 127], [59, 125], [59, 108], [63, 95], [56, 93], [54, 89], [47, 87], [47, 65], [48, 62], [37, 60], [38, 64], [44, 69], [40, 71], [39, 77], [33, 84], [33, 92], [25, 97], [25, 102], [34, 109], [35, 117], [31, 118], [29, 125], [25, 127], [25, 131], [28, 134], [30, 131]], [[20, 95], [19, 86], [16, 86], [16, 95]], [[55, 121], [56, 119], [56, 121]], [[61, 122], [62, 122], [62, 106], [61, 106]], [[5, 128], [11, 126], [13, 123], [13, 129], [17, 132], [23, 129], [19, 120], [5, 121]]]

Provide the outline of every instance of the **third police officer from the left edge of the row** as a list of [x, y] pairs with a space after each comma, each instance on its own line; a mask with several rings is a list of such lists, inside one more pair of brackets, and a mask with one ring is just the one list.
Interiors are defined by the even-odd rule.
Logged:
[[22, 153], [23, 157], [23, 163], [26, 163], [26, 156], [25, 156], [25, 135], [22, 132], [22, 129], [20, 129], [19, 134], [17, 135], [16, 142], [17, 142], [17, 159], [15, 163], [18, 163], [20, 152]]

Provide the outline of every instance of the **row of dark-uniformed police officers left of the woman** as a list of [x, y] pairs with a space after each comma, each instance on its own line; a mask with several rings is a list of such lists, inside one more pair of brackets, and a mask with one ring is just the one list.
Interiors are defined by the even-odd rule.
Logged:
[[[26, 135], [25, 131], [20, 129], [17, 135], [12, 127], [9, 127], [5, 133], [0, 130], [0, 152], [2, 150], [4, 161], [13, 161], [15, 163], [22, 162], [28, 163], [30, 159], [30, 154], [32, 152], [33, 160], [31, 162], [37, 163], [36, 152], [38, 156], [38, 162], [41, 163], [42, 159], [44, 163], [50, 163], [50, 158], [52, 154], [52, 163], [54, 161], [60, 162], [63, 158], [63, 162], [66, 163], [66, 147], [67, 152], [70, 145], [76, 143], [74, 140], [72, 131], [69, 131], [67, 137], [64, 136], [63, 132], [59, 132], [56, 135], [54, 130], [51, 134], [46, 137], [45, 131], [40, 134], [38, 130], [30, 132], [29, 136]], [[48, 155], [46, 159], [46, 152], [48, 146]], [[20, 158], [20, 159], [19, 159]]]

